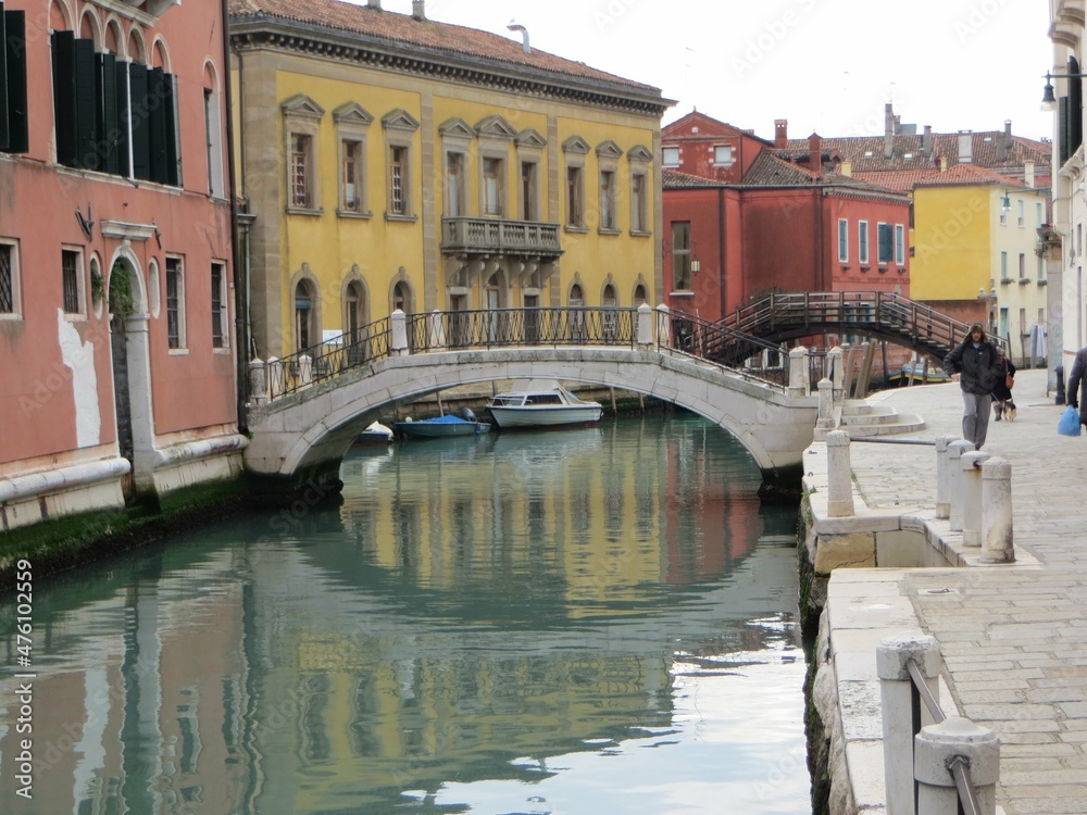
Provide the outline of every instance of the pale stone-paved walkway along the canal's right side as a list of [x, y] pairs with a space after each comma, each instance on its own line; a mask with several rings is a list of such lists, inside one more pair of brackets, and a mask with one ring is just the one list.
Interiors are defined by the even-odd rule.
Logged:
[[[1000, 737], [1004, 812], [1087, 813], [1087, 435], [1057, 434], [1045, 371], [1021, 371], [1014, 393], [1019, 417], [990, 422], [983, 450], [1012, 464], [1015, 549], [1040, 567], [913, 569], [902, 582], [961, 715]], [[957, 384], [872, 401], [925, 419], [895, 438], [961, 434]], [[854, 441], [850, 455], [871, 509], [934, 509], [935, 448]]]

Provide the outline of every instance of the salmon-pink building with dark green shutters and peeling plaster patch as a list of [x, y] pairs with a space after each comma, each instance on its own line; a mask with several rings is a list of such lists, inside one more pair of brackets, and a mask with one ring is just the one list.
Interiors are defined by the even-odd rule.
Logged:
[[0, 528], [236, 475], [220, 0], [0, 9]]

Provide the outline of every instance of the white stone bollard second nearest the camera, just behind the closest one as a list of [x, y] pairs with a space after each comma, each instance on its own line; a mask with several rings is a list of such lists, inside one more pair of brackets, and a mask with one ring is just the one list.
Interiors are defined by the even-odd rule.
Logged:
[[[914, 722], [932, 724], [928, 707], [913, 690], [910, 662], [916, 663], [933, 697], [939, 699], [940, 650], [936, 639], [901, 634], [876, 648], [883, 714], [884, 785], [887, 815], [913, 815]], [[917, 709], [914, 709], [914, 705]]]

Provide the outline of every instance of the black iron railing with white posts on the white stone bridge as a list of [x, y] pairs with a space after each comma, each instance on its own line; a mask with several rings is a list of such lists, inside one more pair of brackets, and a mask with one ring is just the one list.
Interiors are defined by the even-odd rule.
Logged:
[[[701, 359], [778, 389], [788, 385], [788, 349], [780, 344], [664, 308], [645, 314], [617, 306], [400, 314], [259, 364], [263, 383], [251, 383], [250, 394], [275, 400], [399, 353], [509, 347], [648, 347]], [[651, 325], [644, 323], [647, 318]], [[397, 321], [404, 331], [400, 340], [395, 339]], [[402, 347], [395, 347], [398, 342]]]

